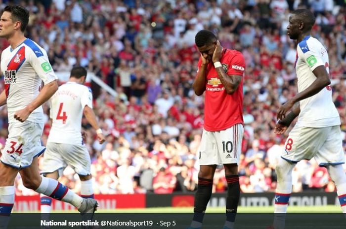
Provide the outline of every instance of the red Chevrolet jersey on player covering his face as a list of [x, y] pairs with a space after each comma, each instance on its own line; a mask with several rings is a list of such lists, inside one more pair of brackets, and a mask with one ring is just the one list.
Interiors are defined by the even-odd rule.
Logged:
[[[245, 60], [236, 50], [224, 49], [220, 60], [227, 75], [243, 76]], [[202, 65], [200, 58], [198, 69]], [[243, 79], [232, 95], [222, 85], [213, 63], [207, 66], [206, 95], [204, 105], [204, 129], [207, 131], [226, 130], [243, 121]]]

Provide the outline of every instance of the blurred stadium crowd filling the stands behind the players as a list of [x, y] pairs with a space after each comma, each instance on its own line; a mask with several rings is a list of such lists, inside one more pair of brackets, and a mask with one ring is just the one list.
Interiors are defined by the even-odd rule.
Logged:
[[[344, 0], [2, 0], [0, 8], [9, 2], [26, 5], [31, 13], [27, 35], [47, 51], [56, 72], [82, 65], [117, 92], [112, 97], [91, 84], [94, 109], [107, 135], [103, 145], [83, 120], [95, 194], [195, 190], [204, 97], [194, 95], [191, 85], [200, 56], [194, 36], [202, 29], [216, 33], [223, 47], [241, 51], [246, 60], [242, 192], [276, 187], [274, 168], [288, 133], [273, 133], [276, 110], [297, 93], [296, 45], [285, 32], [293, 9], [308, 7], [317, 17], [312, 35], [328, 50], [333, 98], [346, 133]], [[0, 50], [7, 45], [1, 40]], [[47, 105], [44, 111], [45, 145]], [[7, 125], [1, 107], [2, 146]], [[293, 180], [294, 192], [335, 191], [326, 169], [314, 160], [298, 163]], [[79, 192], [71, 168], [60, 181]], [[17, 195], [35, 194], [20, 177], [16, 186]], [[226, 187], [218, 167], [214, 191]]]

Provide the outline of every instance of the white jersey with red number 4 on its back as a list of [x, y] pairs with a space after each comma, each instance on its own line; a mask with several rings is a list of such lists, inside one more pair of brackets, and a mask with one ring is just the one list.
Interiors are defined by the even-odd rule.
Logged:
[[59, 87], [50, 98], [53, 120], [47, 142], [82, 145], [82, 117], [85, 106], [92, 108], [91, 90], [75, 82]]

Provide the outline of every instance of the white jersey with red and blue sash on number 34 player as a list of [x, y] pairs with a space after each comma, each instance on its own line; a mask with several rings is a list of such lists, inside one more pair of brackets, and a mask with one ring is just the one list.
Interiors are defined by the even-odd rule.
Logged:
[[[9, 123], [17, 122], [14, 113], [39, 95], [42, 81], [47, 84], [57, 79], [45, 50], [29, 38], [13, 50], [11, 46], [3, 50], [0, 67], [5, 81]], [[27, 120], [43, 123], [42, 107], [34, 110]]]

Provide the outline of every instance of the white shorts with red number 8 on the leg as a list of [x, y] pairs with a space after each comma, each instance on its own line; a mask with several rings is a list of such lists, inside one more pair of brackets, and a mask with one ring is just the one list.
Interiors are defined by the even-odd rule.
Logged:
[[320, 166], [344, 164], [345, 156], [340, 127], [295, 126], [286, 139], [281, 158], [291, 163], [315, 158]]

